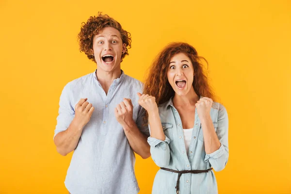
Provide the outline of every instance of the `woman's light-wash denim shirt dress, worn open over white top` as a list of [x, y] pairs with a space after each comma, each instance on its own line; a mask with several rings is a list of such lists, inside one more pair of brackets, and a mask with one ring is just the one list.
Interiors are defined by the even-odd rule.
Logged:
[[[172, 170], [215, 171], [225, 168], [228, 160], [228, 117], [223, 105], [213, 102], [210, 116], [221, 143], [218, 150], [206, 154], [201, 122], [195, 110], [195, 122], [186, 153], [181, 118], [173, 106], [172, 98], [159, 106], [165, 141], [148, 137], [151, 157], [159, 167]], [[193, 115], [194, 116], [194, 115]], [[152, 194], [176, 194], [178, 173], [160, 169], [156, 174]], [[179, 180], [179, 194], [217, 194], [217, 182], [213, 170], [201, 174], [182, 174]]]

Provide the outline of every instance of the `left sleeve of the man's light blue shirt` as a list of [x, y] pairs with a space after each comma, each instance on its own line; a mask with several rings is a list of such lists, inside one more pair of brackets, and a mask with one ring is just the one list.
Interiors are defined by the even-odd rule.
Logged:
[[71, 106], [70, 100], [70, 85], [69, 83], [65, 85], [59, 103], [59, 115], [57, 117], [57, 125], [56, 129], [54, 130], [53, 138], [61, 131], [68, 129], [69, 125], [71, 124], [74, 116], [75, 111], [74, 108]]

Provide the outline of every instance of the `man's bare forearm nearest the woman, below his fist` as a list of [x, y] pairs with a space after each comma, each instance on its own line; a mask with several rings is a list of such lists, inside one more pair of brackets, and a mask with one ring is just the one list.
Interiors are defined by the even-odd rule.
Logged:
[[136, 124], [133, 122], [128, 126], [124, 126], [123, 129], [131, 149], [143, 159], [150, 157], [150, 147], [147, 143], [147, 137], [138, 129]]

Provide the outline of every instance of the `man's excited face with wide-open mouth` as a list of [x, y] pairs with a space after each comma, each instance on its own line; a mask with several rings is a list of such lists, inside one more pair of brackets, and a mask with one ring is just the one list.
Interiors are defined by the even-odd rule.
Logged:
[[93, 51], [97, 67], [106, 72], [120, 69], [121, 55], [126, 50], [120, 32], [113, 27], [103, 28], [93, 37]]

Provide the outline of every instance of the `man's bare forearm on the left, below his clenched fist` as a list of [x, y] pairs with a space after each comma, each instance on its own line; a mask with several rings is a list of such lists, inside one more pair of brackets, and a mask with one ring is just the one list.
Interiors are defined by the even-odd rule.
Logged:
[[68, 129], [59, 132], [55, 136], [54, 143], [57, 146], [57, 151], [62, 156], [65, 156], [73, 151], [78, 145], [81, 133], [82, 127], [76, 124], [73, 120]]

